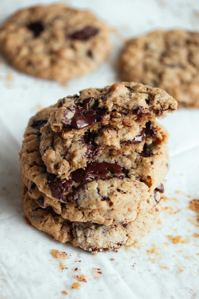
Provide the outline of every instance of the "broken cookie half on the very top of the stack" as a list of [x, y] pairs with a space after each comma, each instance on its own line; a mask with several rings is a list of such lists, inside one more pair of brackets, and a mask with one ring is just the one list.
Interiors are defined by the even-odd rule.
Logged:
[[164, 90], [122, 82], [103, 89], [84, 89], [80, 96], [58, 100], [49, 111], [49, 122], [54, 132], [61, 132], [67, 138], [107, 124], [117, 129], [145, 126], [149, 120], [164, 118], [175, 109], [177, 102]]

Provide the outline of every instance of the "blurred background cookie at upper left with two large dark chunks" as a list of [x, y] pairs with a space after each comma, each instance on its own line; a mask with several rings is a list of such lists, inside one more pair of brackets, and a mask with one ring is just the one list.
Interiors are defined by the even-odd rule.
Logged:
[[36, 6], [10, 16], [0, 29], [0, 51], [19, 71], [70, 80], [95, 70], [112, 45], [107, 25], [91, 12], [63, 4]]

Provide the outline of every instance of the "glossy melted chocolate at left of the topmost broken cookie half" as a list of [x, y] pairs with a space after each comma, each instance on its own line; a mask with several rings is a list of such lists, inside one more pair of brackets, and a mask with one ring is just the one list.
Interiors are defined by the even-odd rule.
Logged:
[[[83, 100], [83, 103], [79, 103], [81, 106], [70, 106], [65, 110], [64, 119], [62, 123], [70, 128], [83, 129], [87, 126], [90, 126], [98, 121], [103, 120], [103, 116], [107, 115], [108, 112], [105, 110], [90, 109], [89, 104], [93, 100], [92, 97], [86, 98]], [[74, 115], [72, 118], [68, 117], [68, 114], [73, 112]]]

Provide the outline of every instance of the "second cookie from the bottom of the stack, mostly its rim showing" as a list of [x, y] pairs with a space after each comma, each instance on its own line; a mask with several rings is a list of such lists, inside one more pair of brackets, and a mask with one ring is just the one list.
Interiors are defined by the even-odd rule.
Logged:
[[98, 209], [84, 209], [76, 204], [62, 203], [53, 200], [40, 192], [35, 183], [29, 181], [28, 194], [41, 208], [52, 207], [53, 210], [61, 215], [64, 219], [72, 222], [94, 222], [98, 224], [111, 225], [111, 224], [125, 224], [135, 220], [139, 215], [143, 215], [147, 211], [154, 208], [161, 200], [164, 186], [161, 183], [153, 193], [146, 199], [139, 201], [139, 198], [128, 205], [120, 208], [111, 208], [108, 210]]

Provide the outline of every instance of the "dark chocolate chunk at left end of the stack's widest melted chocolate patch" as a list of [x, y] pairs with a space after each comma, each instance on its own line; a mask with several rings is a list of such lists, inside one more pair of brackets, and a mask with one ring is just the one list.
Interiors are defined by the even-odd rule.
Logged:
[[71, 179], [59, 179], [54, 174], [50, 174], [48, 176], [47, 184], [53, 197], [65, 201], [64, 193], [72, 190], [74, 182]]

